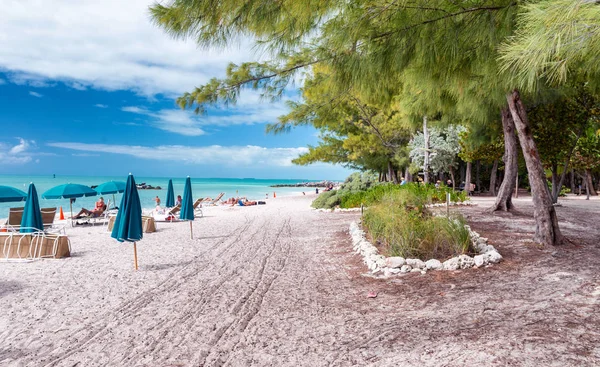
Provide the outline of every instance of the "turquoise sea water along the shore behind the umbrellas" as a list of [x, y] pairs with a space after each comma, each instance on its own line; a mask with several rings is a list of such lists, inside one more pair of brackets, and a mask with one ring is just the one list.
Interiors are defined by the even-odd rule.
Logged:
[[[185, 185], [185, 178], [172, 178], [173, 189], [175, 191], [175, 197], [177, 195], [183, 196], [183, 187]], [[99, 185], [107, 181], [126, 181], [126, 176], [8, 176], [0, 175], [0, 185], [16, 187], [20, 190], [27, 192], [27, 188], [30, 182], [35, 184], [38, 195], [40, 196], [40, 207], [63, 207], [65, 215], [69, 211], [69, 200], [58, 199], [58, 200], [44, 200], [41, 198], [42, 194], [57, 185], [65, 183], [77, 183], [86, 186]], [[160, 186], [162, 190], [138, 190], [140, 200], [143, 208], [153, 208], [154, 197], [158, 196], [162, 204], [164, 205], [167, 196], [167, 185], [169, 177], [135, 177], [135, 181], [138, 184], [145, 182], [147, 185]], [[273, 192], [276, 192], [278, 196], [293, 195], [301, 193], [302, 191], [311, 190], [309, 188], [299, 187], [278, 187], [273, 188], [270, 185], [276, 184], [295, 184], [297, 182], [307, 182], [311, 180], [279, 180], [279, 179], [253, 179], [253, 178], [192, 178], [192, 193], [194, 199], [211, 197], [214, 198], [219, 193], [224, 192], [224, 199], [229, 197], [247, 197], [248, 199], [262, 200], [269, 194], [269, 197], [273, 197]], [[315, 180], [313, 180], [315, 181]], [[101, 195], [104, 200], [110, 200], [112, 202], [112, 195]], [[121, 194], [116, 194], [117, 205], [121, 202]], [[73, 212], [77, 213], [82, 207], [91, 209], [94, 207], [94, 203], [98, 200], [98, 196], [77, 198], [73, 204]], [[0, 203], [0, 218], [8, 217], [8, 209], [11, 207], [22, 207], [25, 202], [18, 203]], [[112, 203], [111, 203], [112, 206]]]

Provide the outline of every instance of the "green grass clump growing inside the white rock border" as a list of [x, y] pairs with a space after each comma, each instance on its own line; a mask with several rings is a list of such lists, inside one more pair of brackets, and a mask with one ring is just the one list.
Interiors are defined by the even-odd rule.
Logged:
[[434, 217], [424, 208], [427, 190], [399, 190], [369, 206], [363, 226], [387, 256], [445, 259], [472, 253], [469, 231], [461, 216]]

